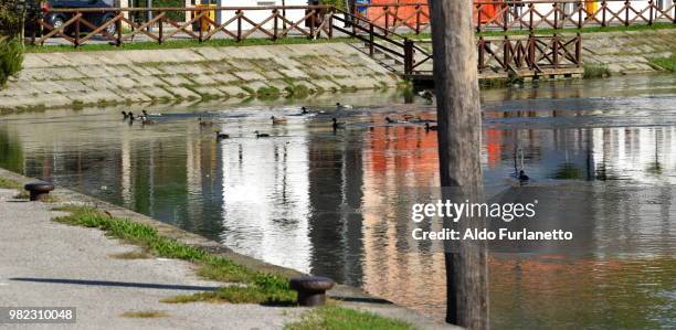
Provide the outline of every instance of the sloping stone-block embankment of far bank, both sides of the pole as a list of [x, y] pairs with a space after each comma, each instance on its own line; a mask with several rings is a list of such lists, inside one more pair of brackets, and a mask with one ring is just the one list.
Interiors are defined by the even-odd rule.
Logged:
[[[573, 36], [561, 31], [563, 36]], [[676, 28], [582, 33], [583, 65], [574, 74], [511, 77], [488, 61], [482, 87], [548, 79], [668, 72], [657, 60], [676, 54]], [[494, 46], [498, 36], [487, 36]], [[27, 53], [18, 77], [0, 89], [0, 114], [46, 108], [170, 105], [219, 100], [240, 105], [349, 96], [412, 85], [347, 41], [159, 50]], [[429, 65], [429, 64], [426, 64]], [[495, 71], [495, 72], [494, 72]]]

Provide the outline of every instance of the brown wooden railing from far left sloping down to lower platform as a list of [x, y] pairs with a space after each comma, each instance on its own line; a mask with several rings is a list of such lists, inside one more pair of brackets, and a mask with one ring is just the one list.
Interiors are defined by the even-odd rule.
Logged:
[[[222, 18], [224, 18], [222, 19], [223, 23], [214, 22], [209, 17], [209, 10], [220, 11]], [[46, 33], [35, 39], [34, 42], [43, 44], [50, 38], [61, 36], [74, 46], [80, 46], [94, 39], [120, 45], [131, 41], [136, 35], [145, 35], [148, 40], [158, 43], [179, 35], [199, 42], [216, 36], [242, 41], [251, 38], [254, 33], [257, 33], [257, 38], [276, 40], [288, 36], [292, 32], [310, 39], [321, 36], [330, 39], [337, 31], [342, 35], [363, 42], [369, 55], [373, 56], [378, 51], [403, 64], [403, 72], [401, 73], [406, 76], [430, 75], [432, 73], [430, 64], [433, 61], [433, 55], [430, 41], [409, 39], [393, 31], [392, 26], [381, 26], [377, 20], [368, 20], [334, 7], [214, 7], [209, 10], [204, 8], [155, 8], [152, 9], [152, 18], [146, 22], [135, 22], [128, 17], [131, 12], [147, 12], [147, 9], [53, 10], [52, 12], [68, 13], [70, 19], [59, 28], [50, 25], [42, 19], [39, 20], [35, 23], [40, 24]], [[289, 19], [284, 13], [291, 10], [302, 10], [304, 14], [298, 15], [296, 13], [295, 19]], [[192, 14], [186, 21], [177, 21], [171, 19], [172, 17], [180, 17], [170, 14], [175, 12], [190, 12]], [[109, 19], [95, 24], [86, 19], [89, 13], [107, 13]], [[197, 24], [197, 29], [193, 29], [193, 24]], [[87, 28], [89, 32], [83, 32], [83, 26]], [[126, 29], [123, 29], [123, 26]], [[413, 28], [418, 29], [419, 26]], [[581, 65], [581, 36], [579, 34], [573, 39], [564, 40], [558, 34], [535, 36], [531, 33], [528, 39], [505, 36], [499, 45], [496, 46], [495, 43], [495, 41], [479, 38], [477, 43], [479, 72], [489, 67], [493, 68], [496, 64], [500, 71], [505, 72], [521, 70], [541, 72], [545, 68]]]

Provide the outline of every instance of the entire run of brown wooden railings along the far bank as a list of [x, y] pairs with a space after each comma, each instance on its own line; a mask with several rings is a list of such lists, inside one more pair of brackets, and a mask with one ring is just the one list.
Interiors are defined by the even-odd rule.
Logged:
[[[632, 24], [676, 24], [676, 0], [606, 0], [598, 8], [589, 1], [506, 0], [475, 1], [474, 25], [486, 31], [525, 30], [525, 35], [479, 36], [477, 68], [483, 78], [551, 78], [582, 72], [582, 38], [559, 33], [567, 28]], [[83, 8], [51, 9], [66, 18], [57, 26], [32, 19], [34, 44], [54, 39], [78, 47], [86, 43], [193, 39], [350, 36], [357, 49], [393, 73], [412, 79], [431, 79], [433, 66], [430, 15], [426, 2], [359, 4], [347, 11], [331, 6], [211, 7], [202, 8]], [[219, 19], [214, 18], [218, 13]], [[106, 17], [93, 22], [89, 17]], [[139, 18], [141, 18], [139, 20]], [[541, 29], [554, 30], [542, 34]], [[43, 33], [35, 33], [35, 31]]]

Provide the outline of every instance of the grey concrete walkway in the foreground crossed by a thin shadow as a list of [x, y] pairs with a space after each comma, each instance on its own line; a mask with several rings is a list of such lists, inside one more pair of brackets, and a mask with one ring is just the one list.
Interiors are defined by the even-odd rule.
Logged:
[[[196, 277], [192, 265], [173, 259], [120, 259], [135, 246], [98, 230], [51, 221], [49, 204], [12, 201], [0, 189], [0, 307], [75, 307], [75, 324], [0, 324], [9, 329], [279, 329], [300, 308], [257, 305], [159, 302], [219, 284]], [[133, 311], [161, 318], [127, 318]]]

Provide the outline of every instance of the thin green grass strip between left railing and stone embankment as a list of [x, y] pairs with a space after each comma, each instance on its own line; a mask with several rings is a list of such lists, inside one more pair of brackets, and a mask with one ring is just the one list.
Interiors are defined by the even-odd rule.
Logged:
[[234, 39], [213, 39], [200, 43], [197, 40], [170, 40], [159, 44], [154, 41], [142, 41], [122, 44], [119, 47], [109, 44], [84, 44], [75, 49], [73, 45], [27, 45], [27, 53], [55, 53], [55, 52], [98, 52], [98, 51], [133, 51], [133, 50], [170, 50], [170, 49], [192, 49], [192, 47], [222, 47], [222, 46], [254, 46], [254, 45], [281, 45], [281, 44], [307, 44], [307, 43], [331, 43], [355, 41], [351, 38], [334, 38], [310, 40], [307, 38], [293, 36], [272, 39], [245, 39], [241, 42]]

